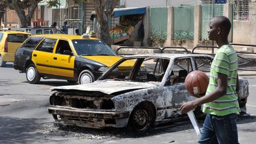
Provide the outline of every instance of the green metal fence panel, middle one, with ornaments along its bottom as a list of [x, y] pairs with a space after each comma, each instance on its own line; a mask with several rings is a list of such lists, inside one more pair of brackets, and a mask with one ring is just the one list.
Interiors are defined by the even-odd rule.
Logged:
[[194, 6], [174, 7], [174, 39], [194, 40]]

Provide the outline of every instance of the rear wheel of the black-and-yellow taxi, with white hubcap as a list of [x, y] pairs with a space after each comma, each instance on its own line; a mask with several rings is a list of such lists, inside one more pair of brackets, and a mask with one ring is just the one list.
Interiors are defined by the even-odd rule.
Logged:
[[26, 71], [26, 77], [27, 81], [30, 84], [37, 84], [40, 81], [41, 76], [39, 75], [36, 66], [33, 64], [28, 65], [27, 71]]

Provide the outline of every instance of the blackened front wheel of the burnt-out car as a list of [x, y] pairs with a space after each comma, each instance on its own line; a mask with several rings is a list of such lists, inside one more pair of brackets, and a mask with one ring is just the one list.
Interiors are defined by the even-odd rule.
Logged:
[[130, 114], [128, 128], [136, 131], [146, 131], [153, 124], [153, 110], [139, 105]]

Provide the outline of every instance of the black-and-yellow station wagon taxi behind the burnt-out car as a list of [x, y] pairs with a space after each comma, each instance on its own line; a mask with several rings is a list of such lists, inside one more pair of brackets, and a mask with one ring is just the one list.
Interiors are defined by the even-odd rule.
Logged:
[[[87, 36], [43, 34], [31, 36], [15, 52], [14, 69], [26, 73], [30, 84], [40, 78], [91, 83], [120, 60], [103, 41]], [[134, 61], [124, 63], [115, 75], [130, 71]]]

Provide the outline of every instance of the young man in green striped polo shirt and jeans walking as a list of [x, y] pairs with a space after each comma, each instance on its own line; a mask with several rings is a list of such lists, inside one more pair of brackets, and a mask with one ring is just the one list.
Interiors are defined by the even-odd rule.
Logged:
[[215, 40], [219, 49], [211, 65], [206, 95], [181, 105], [181, 111], [187, 113], [204, 104], [203, 112], [207, 115], [198, 143], [238, 143], [238, 59], [228, 41], [230, 29], [231, 22], [226, 17], [218, 16], [210, 21], [209, 39]]

